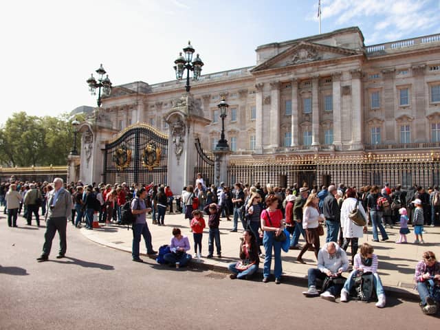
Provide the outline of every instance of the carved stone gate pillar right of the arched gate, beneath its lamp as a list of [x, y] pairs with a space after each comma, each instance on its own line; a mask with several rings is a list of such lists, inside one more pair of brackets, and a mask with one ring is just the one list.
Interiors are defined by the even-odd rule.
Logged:
[[194, 185], [194, 168], [197, 159], [195, 138], [203, 137], [203, 127], [210, 120], [192, 94], [187, 93], [173, 101], [173, 108], [164, 115], [169, 126], [168, 135], [168, 186], [173, 192]]

